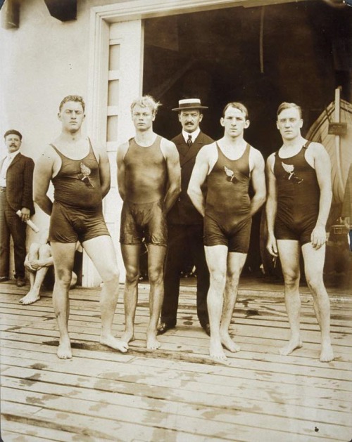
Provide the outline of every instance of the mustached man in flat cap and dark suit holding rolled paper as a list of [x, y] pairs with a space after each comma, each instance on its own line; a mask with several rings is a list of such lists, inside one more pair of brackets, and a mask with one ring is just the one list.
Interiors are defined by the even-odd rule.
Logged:
[[11, 129], [4, 134], [8, 154], [0, 161], [0, 282], [8, 280], [10, 236], [15, 255], [18, 287], [25, 285], [26, 221], [34, 214], [31, 158], [20, 153], [22, 135]]

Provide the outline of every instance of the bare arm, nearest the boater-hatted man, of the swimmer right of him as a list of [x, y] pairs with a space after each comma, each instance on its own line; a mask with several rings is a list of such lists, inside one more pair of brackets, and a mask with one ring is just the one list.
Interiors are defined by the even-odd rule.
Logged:
[[196, 207], [202, 216], [205, 214], [206, 201], [201, 188], [206, 181], [210, 169], [211, 146], [212, 145], [205, 145], [199, 150], [187, 190], [191, 202], [193, 202], [194, 207]]

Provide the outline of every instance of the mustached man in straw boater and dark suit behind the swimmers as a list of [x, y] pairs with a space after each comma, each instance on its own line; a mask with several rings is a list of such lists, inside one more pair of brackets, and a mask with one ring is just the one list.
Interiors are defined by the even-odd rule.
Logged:
[[196, 155], [203, 145], [213, 143], [213, 139], [203, 134], [199, 123], [201, 113], [208, 109], [201, 100], [191, 98], [180, 100], [178, 112], [182, 133], [172, 139], [180, 154], [181, 193], [168, 212], [168, 255], [165, 264], [164, 300], [161, 309], [161, 323], [158, 334], [174, 328], [177, 322], [177, 306], [180, 294], [180, 273], [185, 257], [188, 256], [196, 266], [197, 316], [201, 327], [210, 335], [206, 297], [209, 289], [209, 272], [203, 247], [203, 217], [196, 210], [187, 195], [187, 188], [196, 161]]

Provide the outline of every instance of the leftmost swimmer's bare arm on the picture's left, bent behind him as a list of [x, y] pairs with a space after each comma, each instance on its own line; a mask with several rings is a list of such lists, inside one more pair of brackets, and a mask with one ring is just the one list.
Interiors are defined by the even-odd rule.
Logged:
[[53, 202], [46, 193], [57, 167], [57, 158], [58, 155], [49, 146], [35, 163], [33, 173], [33, 200], [49, 216], [53, 210]]

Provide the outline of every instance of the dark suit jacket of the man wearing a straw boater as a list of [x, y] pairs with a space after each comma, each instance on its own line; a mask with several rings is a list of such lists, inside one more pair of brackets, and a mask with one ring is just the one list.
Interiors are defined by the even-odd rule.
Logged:
[[189, 180], [191, 179], [191, 173], [196, 162], [196, 155], [201, 150], [203, 145], [213, 143], [213, 139], [210, 136], [199, 133], [199, 136], [194, 140], [191, 148], [188, 147], [184, 141], [182, 133], [175, 136], [171, 140], [175, 143], [177, 150], [180, 154], [181, 164], [181, 193], [177, 198], [177, 201], [168, 212], [169, 224], [201, 224], [203, 223], [203, 216], [194, 207], [191, 199], [187, 195], [187, 188]]

